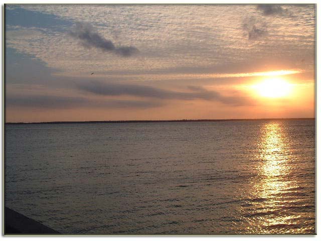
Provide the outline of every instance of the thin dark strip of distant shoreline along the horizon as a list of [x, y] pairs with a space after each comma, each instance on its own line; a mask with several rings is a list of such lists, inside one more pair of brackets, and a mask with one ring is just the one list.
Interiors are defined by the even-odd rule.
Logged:
[[19, 122], [5, 125], [35, 125], [35, 124], [99, 124], [99, 123], [160, 123], [160, 122], [246, 122], [246, 121], [313, 121], [314, 118], [257, 118], [257, 119], [172, 119], [165, 121], [85, 121], [85, 122]]

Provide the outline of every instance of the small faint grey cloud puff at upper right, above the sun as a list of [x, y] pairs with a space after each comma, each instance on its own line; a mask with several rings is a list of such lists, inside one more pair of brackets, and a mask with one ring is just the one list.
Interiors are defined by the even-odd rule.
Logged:
[[243, 21], [243, 30], [247, 32], [249, 40], [258, 40], [268, 34], [265, 22], [258, 22], [251, 17]]

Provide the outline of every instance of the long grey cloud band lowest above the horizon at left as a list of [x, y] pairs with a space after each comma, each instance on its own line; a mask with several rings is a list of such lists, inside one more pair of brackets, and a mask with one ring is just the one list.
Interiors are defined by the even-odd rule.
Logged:
[[6, 107], [28, 107], [46, 109], [69, 109], [77, 107], [108, 107], [108, 108], [152, 108], [164, 105], [157, 101], [143, 100], [92, 100], [84, 97], [64, 97], [64, 96], [7, 96]]

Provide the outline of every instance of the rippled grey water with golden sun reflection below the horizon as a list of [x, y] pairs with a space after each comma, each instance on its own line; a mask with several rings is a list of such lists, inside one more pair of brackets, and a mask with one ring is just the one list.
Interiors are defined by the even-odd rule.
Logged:
[[65, 234], [315, 233], [314, 121], [6, 125], [6, 206]]

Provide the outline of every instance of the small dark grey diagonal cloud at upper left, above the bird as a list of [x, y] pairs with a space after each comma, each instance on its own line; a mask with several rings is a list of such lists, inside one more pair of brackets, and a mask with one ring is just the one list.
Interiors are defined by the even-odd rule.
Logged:
[[70, 31], [69, 34], [75, 39], [80, 40], [80, 43], [85, 48], [98, 48], [125, 57], [138, 52], [138, 49], [132, 46], [115, 47], [110, 40], [101, 36], [90, 24], [77, 23], [75, 29]]

